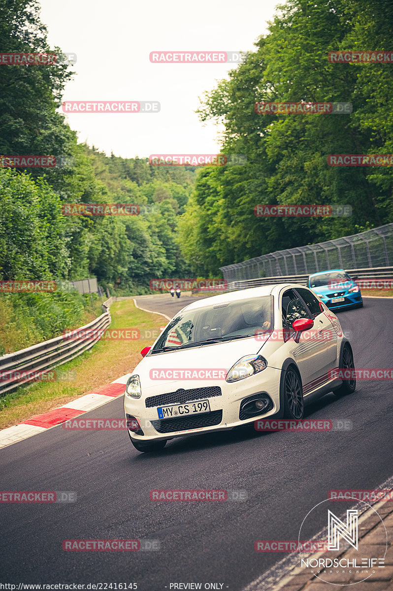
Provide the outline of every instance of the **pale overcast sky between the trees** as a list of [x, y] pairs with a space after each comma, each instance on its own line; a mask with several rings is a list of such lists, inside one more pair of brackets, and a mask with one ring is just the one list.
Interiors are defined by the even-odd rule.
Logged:
[[69, 113], [79, 141], [124, 158], [215, 154], [219, 131], [194, 112], [226, 63], [151, 63], [151, 51], [249, 51], [277, 0], [41, 0], [51, 47], [76, 53], [64, 100], [156, 100], [159, 113]]

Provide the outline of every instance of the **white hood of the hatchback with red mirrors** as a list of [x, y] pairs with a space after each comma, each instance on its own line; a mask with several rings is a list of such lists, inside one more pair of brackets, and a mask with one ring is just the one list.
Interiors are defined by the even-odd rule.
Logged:
[[[156, 353], [142, 359], [132, 373], [139, 375], [142, 397], [160, 393], [164, 386], [165, 389], [168, 387], [176, 389], [219, 385], [220, 382], [225, 381], [226, 373], [232, 365], [246, 355], [255, 355], [262, 345], [264, 343], [250, 337], [226, 343], [212, 343], [212, 345], [196, 346], [190, 349]], [[182, 370], [183, 373], [181, 373]], [[193, 372], [191, 378], [187, 378], [190, 374], [186, 374], [186, 370]], [[195, 373], [201, 370], [202, 374]], [[213, 374], [215, 370], [217, 372]], [[173, 371], [177, 374], [171, 377]], [[206, 377], [200, 378], [204, 373]], [[216, 375], [220, 377], [216, 379]]]

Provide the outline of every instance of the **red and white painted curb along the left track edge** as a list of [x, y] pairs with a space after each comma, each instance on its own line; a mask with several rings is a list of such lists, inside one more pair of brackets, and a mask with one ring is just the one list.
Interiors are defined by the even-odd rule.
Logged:
[[0, 449], [7, 447], [22, 439], [27, 439], [32, 435], [46, 431], [51, 427], [56, 427], [70, 420], [70, 418], [79, 417], [93, 408], [98, 408], [113, 398], [122, 396], [125, 391], [125, 384], [131, 374], [126, 374], [114, 382], [100, 388], [96, 388], [89, 394], [85, 394], [68, 404], [63, 404], [59, 408], [54, 408], [44, 414], [38, 414], [35, 417], [28, 418], [27, 421], [14, 427], [8, 427], [0, 431]]

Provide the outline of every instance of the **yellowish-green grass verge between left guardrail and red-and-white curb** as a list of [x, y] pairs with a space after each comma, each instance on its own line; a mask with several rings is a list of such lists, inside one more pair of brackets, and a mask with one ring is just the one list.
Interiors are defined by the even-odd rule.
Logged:
[[[149, 330], [158, 336], [160, 326], [167, 323], [162, 316], [139, 310], [132, 299], [113, 303], [111, 316], [110, 330], [139, 329], [143, 336]], [[141, 361], [141, 349], [155, 340], [155, 336], [151, 339], [113, 340], [110, 334], [106, 333], [83, 355], [56, 368], [60, 377], [57, 381], [35, 382], [1, 398], [0, 429], [67, 404], [128, 374]]]

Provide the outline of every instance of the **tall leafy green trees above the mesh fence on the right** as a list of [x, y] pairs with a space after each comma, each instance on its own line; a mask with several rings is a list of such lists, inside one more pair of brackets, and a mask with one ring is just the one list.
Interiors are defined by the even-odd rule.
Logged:
[[[367, 8], [366, 8], [367, 7]], [[228, 79], [204, 96], [202, 121], [225, 125], [222, 152], [245, 167], [201, 171], [181, 217], [189, 261], [209, 272], [278, 249], [392, 221], [389, 168], [329, 167], [335, 153], [391, 153], [392, 73], [386, 64], [329, 63], [337, 50], [387, 50], [392, 8], [372, 1], [288, 0]], [[274, 115], [256, 102], [352, 102], [351, 115]], [[240, 170], [236, 170], [239, 168]], [[258, 218], [256, 204], [350, 204], [351, 217]], [[193, 221], [197, 220], [193, 226]]]

